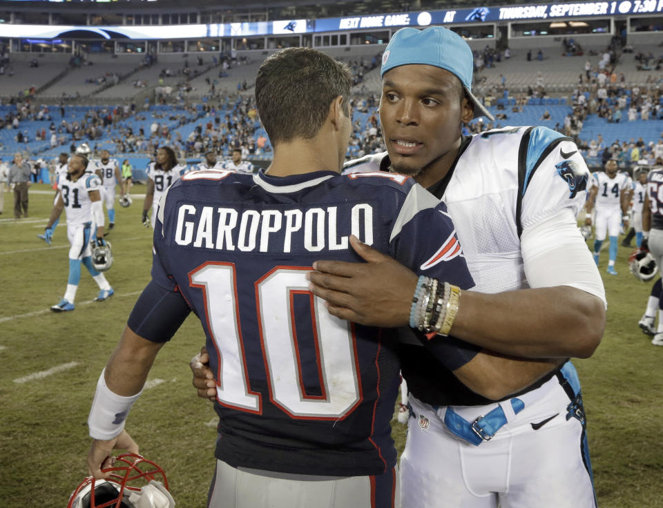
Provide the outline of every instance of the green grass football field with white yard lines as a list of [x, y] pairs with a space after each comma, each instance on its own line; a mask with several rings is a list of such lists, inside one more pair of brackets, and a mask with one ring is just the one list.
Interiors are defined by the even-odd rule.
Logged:
[[[144, 193], [135, 186], [133, 193]], [[95, 384], [137, 295], [150, 277], [151, 230], [142, 226], [142, 200], [116, 206], [108, 235], [115, 295], [93, 302], [98, 289], [86, 270], [76, 310], [48, 309], [66, 289], [69, 243], [64, 217], [50, 246], [37, 238], [52, 206], [52, 190], [35, 185], [30, 218], [12, 219], [12, 195], [0, 215], [0, 507], [66, 507], [86, 475], [87, 415]], [[599, 506], [663, 507], [663, 348], [637, 327], [651, 284], [628, 273], [631, 249], [620, 247], [617, 271], [601, 274], [608, 295], [603, 342], [575, 362], [583, 385]], [[517, 318], [518, 309], [513, 309]], [[215, 413], [195, 396], [189, 360], [204, 334], [192, 315], [160, 352], [127, 429], [141, 453], [168, 475], [177, 506], [204, 507], [214, 467]], [[405, 431], [394, 422], [399, 449]], [[536, 507], [532, 507], [536, 508]]]

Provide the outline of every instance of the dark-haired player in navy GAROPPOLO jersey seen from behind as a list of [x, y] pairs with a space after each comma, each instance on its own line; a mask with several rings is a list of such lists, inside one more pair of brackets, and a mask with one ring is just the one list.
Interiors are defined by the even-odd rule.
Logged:
[[[305, 274], [320, 255], [358, 260], [350, 246], [357, 235], [420, 273], [463, 287], [472, 281], [445, 206], [413, 179], [340, 175], [350, 84], [347, 68], [316, 50], [271, 55], [256, 79], [274, 146], [268, 170], [195, 171], [164, 192], [153, 279], [90, 411], [96, 478], [114, 447], [137, 449], [124, 417], [155, 355], [193, 310], [220, 376], [209, 507], [398, 507], [394, 331], [332, 317], [307, 291]], [[446, 360], [462, 354], [443, 349]]]

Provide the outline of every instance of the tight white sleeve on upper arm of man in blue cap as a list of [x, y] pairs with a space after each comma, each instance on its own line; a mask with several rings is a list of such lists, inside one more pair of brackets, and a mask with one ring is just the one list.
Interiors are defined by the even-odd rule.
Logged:
[[521, 251], [530, 287], [571, 286], [600, 298], [607, 306], [601, 275], [571, 208], [526, 228]]

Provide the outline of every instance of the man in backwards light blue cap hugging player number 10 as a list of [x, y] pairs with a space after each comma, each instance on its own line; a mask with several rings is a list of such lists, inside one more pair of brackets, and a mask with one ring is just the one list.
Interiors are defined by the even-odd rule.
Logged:
[[[567, 361], [595, 351], [606, 316], [575, 219], [586, 164], [571, 139], [547, 128], [463, 137], [463, 123], [486, 112], [470, 92], [472, 51], [446, 28], [398, 30], [382, 74], [387, 157], [352, 169], [412, 175], [443, 199], [476, 283], [461, 295], [450, 335], [508, 355], [492, 357], [486, 384], [505, 372], [530, 383], [515, 394], [495, 384], [481, 402], [452, 389], [443, 369], [402, 358], [414, 415], [401, 456], [403, 507], [595, 507], [582, 395]], [[310, 289], [337, 317], [407, 325], [416, 276], [355, 245], [367, 263], [318, 261]], [[541, 368], [541, 358], [559, 368]], [[201, 394], [206, 384], [195, 386]]]

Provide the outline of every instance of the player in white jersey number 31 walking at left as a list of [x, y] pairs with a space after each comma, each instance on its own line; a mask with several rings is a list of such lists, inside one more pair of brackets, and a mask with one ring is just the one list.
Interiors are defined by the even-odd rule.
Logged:
[[73, 155], [69, 159], [68, 173], [62, 175], [58, 181], [60, 193], [44, 233], [50, 239], [53, 224], [66, 209], [67, 237], [71, 244], [69, 279], [64, 297], [58, 304], [50, 308], [53, 312], [75, 309], [74, 300], [78, 283], [81, 280], [81, 262], [99, 286], [99, 294], [95, 301], [102, 302], [113, 295], [113, 288], [108, 284], [104, 274], [97, 271], [92, 262], [90, 235], [94, 233], [95, 226], [97, 239], [93, 239], [92, 242], [96, 242], [97, 245], [105, 245], [106, 242], [104, 240], [104, 210], [100, 193], [102, 182], [95, 173], [86, 171], [87, 167], [88, 159], [84, 155]]

